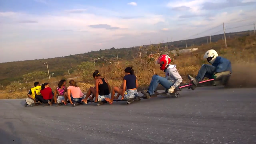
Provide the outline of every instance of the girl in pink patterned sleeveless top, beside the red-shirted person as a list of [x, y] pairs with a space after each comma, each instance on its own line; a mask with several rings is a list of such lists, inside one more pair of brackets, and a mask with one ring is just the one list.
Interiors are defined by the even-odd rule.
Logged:
[[[58, 87], [54, 91], [54, 101], [55, 103], [61, 103], [64, 100], [64, 94], [68, 91], [66, 86], [66, 80], [60, 80], [58, 83]], [[67, 93], [66, 93], [67, 94]], [[58, 98], [56, 97], [58, 95]]]

